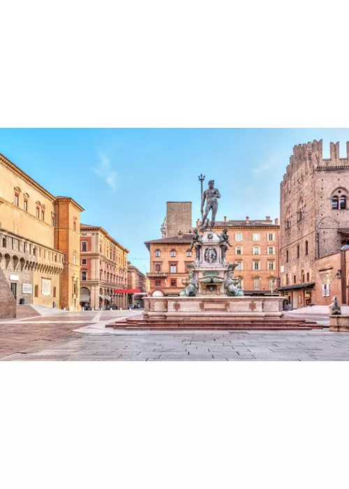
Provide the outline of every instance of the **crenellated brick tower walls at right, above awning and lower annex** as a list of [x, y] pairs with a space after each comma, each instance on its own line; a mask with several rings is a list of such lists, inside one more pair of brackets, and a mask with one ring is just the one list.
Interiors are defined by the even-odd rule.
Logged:
[[313, 283], [315, 261], [338, 252], [343, 245], [341, 229], [349, 228], [349, 142], [346, 158], [339, 156], [339, 143], [330, 143], [329, 149], [326, 159], [322, 140], [296, 145], [283, 175], [281, 286]]

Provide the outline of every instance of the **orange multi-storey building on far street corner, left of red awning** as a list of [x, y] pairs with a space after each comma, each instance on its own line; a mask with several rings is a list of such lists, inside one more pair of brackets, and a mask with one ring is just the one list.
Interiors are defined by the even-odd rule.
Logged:
[[80, 305], [93, 309], [127, 305], [128, 249], [100, 226], [80, 225]]

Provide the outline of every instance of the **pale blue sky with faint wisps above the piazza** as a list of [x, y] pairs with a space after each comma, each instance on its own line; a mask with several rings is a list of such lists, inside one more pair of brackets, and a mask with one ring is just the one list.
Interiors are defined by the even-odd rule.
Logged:
[[0, 129], [0, 153], [51, 194], [84, 207], [149, 270], [144, 241], [160, 236], [167, 200], [191, 200], [200, 217], [200, 182], [221, 192], [218, 220], [279, 217], [279, 184], [294, 145], [341, 142], [348, 129]]

